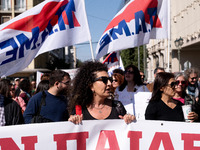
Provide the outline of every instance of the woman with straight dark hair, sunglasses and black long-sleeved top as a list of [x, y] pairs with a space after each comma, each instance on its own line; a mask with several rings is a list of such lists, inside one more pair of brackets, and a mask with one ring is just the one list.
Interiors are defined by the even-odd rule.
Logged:
[[145, 112], [146, 120], [184, 121], [182, 104], [173, 99], [176, 84], [172, 73], [157, 74]]

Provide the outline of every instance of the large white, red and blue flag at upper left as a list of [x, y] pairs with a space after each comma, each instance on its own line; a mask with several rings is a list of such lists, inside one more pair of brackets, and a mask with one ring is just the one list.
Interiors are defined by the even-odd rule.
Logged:
[[0, 76], [44, 52], [91, 40], [84, 0], [45, 0], [0, 26]]

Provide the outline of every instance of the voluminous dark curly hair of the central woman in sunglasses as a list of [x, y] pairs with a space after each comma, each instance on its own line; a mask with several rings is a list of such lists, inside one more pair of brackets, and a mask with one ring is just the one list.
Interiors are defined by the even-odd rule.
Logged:
[[96, 78], [96, 73], [108, 71], [107, 66], [98, 61], [86, 61], [78, 69], [72, 82], [71, 97], [69, 99], [69, 112], [75, 105], [86, 107], [92, 103], [93, 93], [90, 86]]

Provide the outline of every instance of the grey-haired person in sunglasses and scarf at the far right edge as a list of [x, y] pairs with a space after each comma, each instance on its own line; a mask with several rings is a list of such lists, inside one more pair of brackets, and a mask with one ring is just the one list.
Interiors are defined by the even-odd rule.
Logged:
[[188, 86], [186, 93], [190, 95], [196, 101], [199, 100], [199, 86], [198, 86], [198, 76], [199, 70], [197, 68], [190, 68], [185, 71], [185, 75], [188, 79]]

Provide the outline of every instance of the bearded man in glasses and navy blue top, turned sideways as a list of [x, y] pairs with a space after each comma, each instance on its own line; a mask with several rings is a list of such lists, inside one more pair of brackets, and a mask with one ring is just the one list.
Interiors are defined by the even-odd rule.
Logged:
[[65, 94], [70, 85], [69, 83], [70, 76], [68, 73], [61, 70], [53, 71], [49, 78], [49, 90], [39, 92], [29, 100], [23, 114], [25, 123], [31, 123], [32, 118], [37, 114], [40, 107], [41, 99], [44, 97], [45, 105], [42, 105], [40, 115], [52, 122], [67, 121], [69, 114]]

